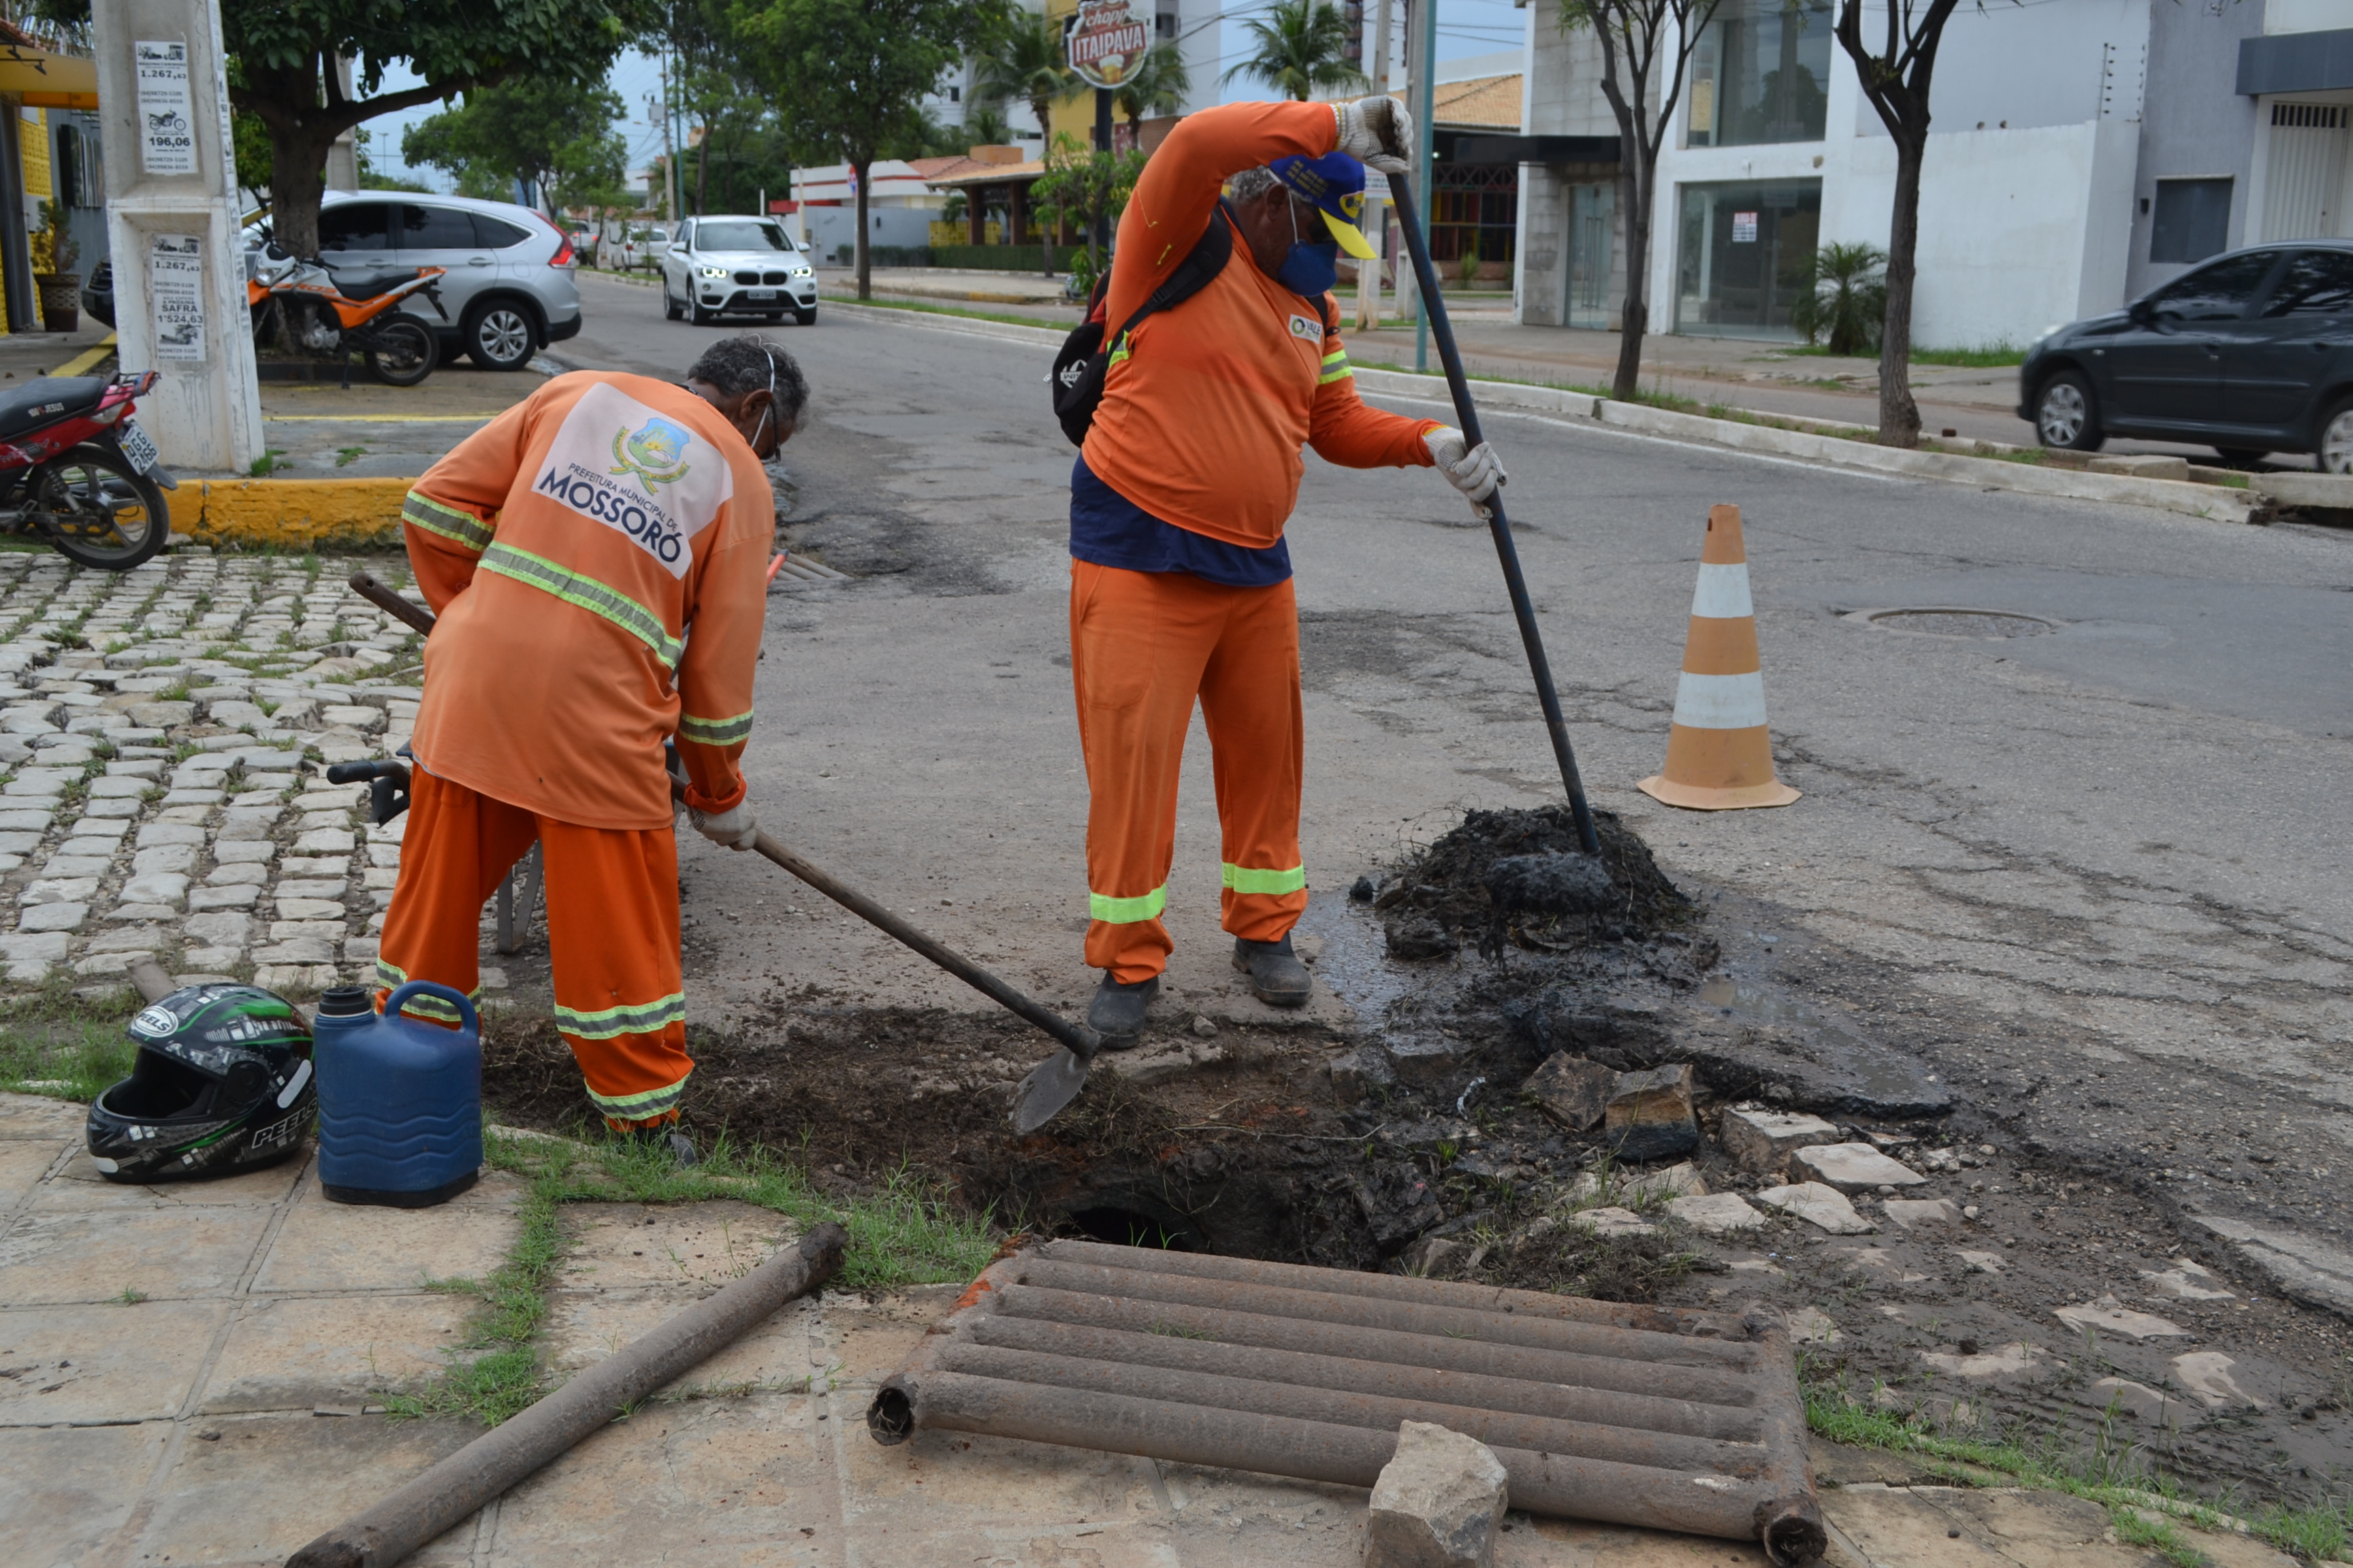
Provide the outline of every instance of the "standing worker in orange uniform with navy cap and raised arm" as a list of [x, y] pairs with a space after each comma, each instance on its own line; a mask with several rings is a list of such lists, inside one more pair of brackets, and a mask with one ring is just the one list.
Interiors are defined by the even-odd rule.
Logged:
[[[1108, 374], [1071, 470], [1071, 677], [1087, 755], [1087, 1023], [1136, 1044], [1172, 943], [1160, 912], [1176, 771], [1200, 701], [1224, 832], [1233, 966], [1275, 1006], [1308, 999], [1292, 926], [1304, 764], [1299, 611], [1282, 524], [1301, 444], [1346, 468], [1435, 465], [1473, 505], [1504, 470], [1431, 418], [1365, 407], [1332, 303], [1365, 162], [1412, 125], [1393, 99], [1226, 103], [1188, 115], [1144, 165], [1104, 301]], [[1395, 165], [1402, 169], [1402, 165]], [[1127, 322], [1219, 216], [1233, 252], [1181, 303]]]

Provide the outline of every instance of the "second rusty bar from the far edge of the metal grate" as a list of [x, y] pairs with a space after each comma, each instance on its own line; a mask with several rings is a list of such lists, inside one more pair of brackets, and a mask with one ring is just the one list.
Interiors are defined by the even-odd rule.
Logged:
[[1322, 1324], [1346, 1324], [1351, 1328], [1400, 1328], [1405, 1333], [1475, 1333], [1504, 1345], [1529, 1345], [1537, 1349], [1567, 1349], [1588, 1356], [1619, 1356], [1649, 1366], [1720, 1366], [1748, 1371], [1755, 1361], [1753, 1345], [1729, 1340], [1694, 1340], [1647, 1328], [1617, 1328], [1612, 1324], [1562, 1324], [1529, 1319], [1506, 1312], [1475, 1312], [1471, 1307], [1433, 1307], [1424, 1302], [1395, 1302], [1369, 1295], [1337, 1295], [1329, 1291], [1294, 1291], [1285, 1286], [1252, 1286], [1231, 1279], [1188, 1279], [1184, 1274], [1153, 1274], [1148, 1269], [1106, 1269], [1092, 1262], [1054, 1262], [1033, 1258], [1019, 1269], [1019, 1281], [1049, 1291], [1085, 1291], [1089, 1295], [1127, 1295], [1148, 1302], [1186, 1307], [1224, 1307], [1231, 1312], [1261, 1312], [1266, 1316], [1308, 1319]]

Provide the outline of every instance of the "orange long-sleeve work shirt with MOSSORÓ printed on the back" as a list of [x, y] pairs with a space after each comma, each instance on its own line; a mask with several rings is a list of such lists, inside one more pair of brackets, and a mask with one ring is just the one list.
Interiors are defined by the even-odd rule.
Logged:
[[584, 827], [744, 799], [774, 491], [708, 402], [579, 371], [489, 421], [402, 505], [440, 616], [412, 748], [428, 773]]

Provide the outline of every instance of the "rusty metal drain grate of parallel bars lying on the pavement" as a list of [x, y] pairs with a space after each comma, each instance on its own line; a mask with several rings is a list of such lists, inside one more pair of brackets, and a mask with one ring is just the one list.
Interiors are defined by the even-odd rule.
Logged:
[[993, 1262], [866, 1410], [1372, 1486], [1398, 1425], [1494, 1448], [1532, 1514], [1821, 1554], [1779, 1316], [1047, 1241]]

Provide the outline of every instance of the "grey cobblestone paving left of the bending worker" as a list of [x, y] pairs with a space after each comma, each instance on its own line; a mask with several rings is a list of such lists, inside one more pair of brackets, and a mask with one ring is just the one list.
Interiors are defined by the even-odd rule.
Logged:
[[358, 564], [0, 555], [9, 980], [139, 954], [292, 992], [372, 969], [407, 818], [369, 827], [367, 790], [325, 766], [407, 741], [421, 665], [346, 585]]

